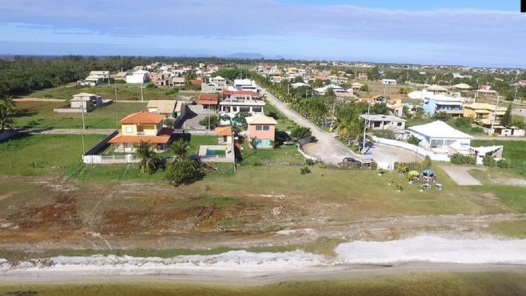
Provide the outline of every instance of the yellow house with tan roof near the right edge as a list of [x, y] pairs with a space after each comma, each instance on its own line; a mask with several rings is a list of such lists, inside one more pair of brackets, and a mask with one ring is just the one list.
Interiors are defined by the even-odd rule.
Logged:
[[[501, 120], [507, 107], [498, 107], [488, 103], [472, 103], [464, 106], [463, 116], [474, 120], [489, 133], [503, 136], [524, 136], [525, 131], [515, 126], [502, 126]], [[493, 130], [491, 130], [493, 129]]]

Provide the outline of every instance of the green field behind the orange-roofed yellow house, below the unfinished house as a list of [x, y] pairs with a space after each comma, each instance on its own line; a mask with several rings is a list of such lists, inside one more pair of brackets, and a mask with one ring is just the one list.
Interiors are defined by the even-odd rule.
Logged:
[[[17, 102], [15, 125], [18, 127], [56, 129], [82, 129], [81, 113], [56, 113], [54, 108], [64, 106], [60, 102]], [[115, 129], [117, 121], [124, 116], [146, 110], [146, 103], [113, 103], [85, 113], [84, 120], [88, 129]], [[120, 127], [120, 126], [119, 126]]]

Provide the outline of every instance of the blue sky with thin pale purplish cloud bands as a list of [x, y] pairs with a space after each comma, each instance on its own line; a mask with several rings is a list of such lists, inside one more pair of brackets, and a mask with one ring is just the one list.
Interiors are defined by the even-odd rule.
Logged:
[[519, 0], [1, 0], [0, 54], [526, 68]]

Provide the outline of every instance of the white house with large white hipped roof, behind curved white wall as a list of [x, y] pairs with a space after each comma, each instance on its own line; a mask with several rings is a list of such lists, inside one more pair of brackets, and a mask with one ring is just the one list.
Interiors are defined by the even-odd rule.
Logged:
[[410, 126], [408, 132], [420, 140], [419, 146], [435, 154], [442, 154], [449, 160], [452, 154], [469, 154], [472, 136], [453, 129], [447, 123], [434, 121]]

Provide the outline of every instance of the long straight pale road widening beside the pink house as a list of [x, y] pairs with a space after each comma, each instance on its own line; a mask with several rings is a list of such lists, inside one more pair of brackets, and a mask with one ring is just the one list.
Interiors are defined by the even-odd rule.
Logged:
[[317, 159], [328, 162], [328, 163], [340, 163], [343, 157], [355, 157], [356, 159], [361, 160], [361, 155], [358, 155], [347, 147], [343, 146], [341, 143], [334, 139], [334, 134], [323, 132], [319, 129], [318, 126], [311, 123], [305, 117], [299, 115], [294, 110], [289, 108], [285, 103], [279, 101], [274, 95], [267, 92], [265, 88], [261, 88], [261, 93], [264, 94], [267, 98], [267, 101], [274, 105], [279, 111], [281, 111], [285, 116], [290, 120], [295, 121], [299, 125], [309, 127], [312, 130], [312, 135], [318, 139], [317, 143], [309, 144], [305, 147], [305, 152], [311, 156], [316, 157]]

